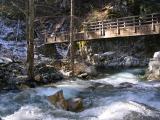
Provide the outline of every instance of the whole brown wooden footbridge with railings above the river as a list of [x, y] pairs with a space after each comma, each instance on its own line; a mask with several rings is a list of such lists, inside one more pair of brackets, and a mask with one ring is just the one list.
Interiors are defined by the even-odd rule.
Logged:
[[[160, 34], [160, 13], [130, 16], [96, 22], [84, 22], [74, 33], [74, 41]], [[45, 35], [45, 43], [69, 42], [69, 32]]]

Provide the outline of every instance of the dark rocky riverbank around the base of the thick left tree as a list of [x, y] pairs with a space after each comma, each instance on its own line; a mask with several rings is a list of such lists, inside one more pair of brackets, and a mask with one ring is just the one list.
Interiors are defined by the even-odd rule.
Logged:
[[35, 65], [35, 80], [28, 81], [25, 63], [0, 57], [0, 91], [36, 87], [63, 79], [63, 75], [53, 66], [42, 62]]

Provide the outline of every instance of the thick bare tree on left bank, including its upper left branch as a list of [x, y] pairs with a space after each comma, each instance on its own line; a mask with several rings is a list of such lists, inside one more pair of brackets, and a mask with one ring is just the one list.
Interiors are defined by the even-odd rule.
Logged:
[[[26, 17], [26, 40], [27, 40], [27, 73], [28, 79], [34, 80], [34, 1], [35, 0], [26, 0], [26, 1], [12, 1], [11, 4], [18, 8], [25, 17]], [[25, 3], [25, 8], [20, 7]]]

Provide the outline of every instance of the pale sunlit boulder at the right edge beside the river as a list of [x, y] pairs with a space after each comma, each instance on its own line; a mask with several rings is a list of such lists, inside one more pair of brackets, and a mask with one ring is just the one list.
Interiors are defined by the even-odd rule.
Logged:
[[160, 51], [155, 52], [153, 58], [149, 62], [147, 78], [151, 80], [160, 80]]

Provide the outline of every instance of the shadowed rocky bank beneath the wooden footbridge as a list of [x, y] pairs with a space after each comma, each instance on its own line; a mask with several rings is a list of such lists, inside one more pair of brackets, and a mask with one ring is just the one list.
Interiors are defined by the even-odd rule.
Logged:
[[76, 58], [106, 69], [146, 67], [154, 52], [160, 49], [158, 39], [159, 35], [83, 41]]

